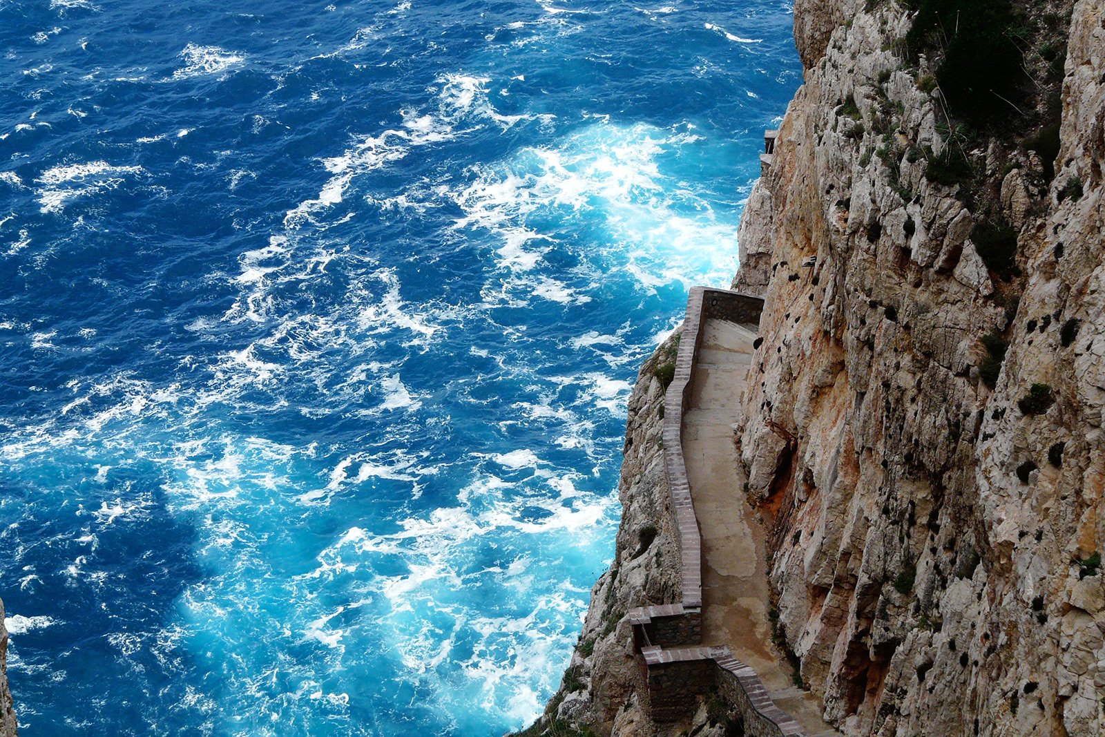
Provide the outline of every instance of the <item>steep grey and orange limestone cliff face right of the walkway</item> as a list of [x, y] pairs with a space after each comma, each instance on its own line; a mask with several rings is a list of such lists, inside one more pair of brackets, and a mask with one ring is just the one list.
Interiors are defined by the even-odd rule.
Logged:
[[1105, 734], [1105, 9], [1049, 10], [1054, 179], [970, 144], [1017, 239], [1001, 276], [982, 198], [917, 155], [951, 144], [894, 51], [912, 18], [796, 2], [804, 84], [740, 230], [735, 285], [766, 307], [739, 443], [780, 629], [845, 734]]

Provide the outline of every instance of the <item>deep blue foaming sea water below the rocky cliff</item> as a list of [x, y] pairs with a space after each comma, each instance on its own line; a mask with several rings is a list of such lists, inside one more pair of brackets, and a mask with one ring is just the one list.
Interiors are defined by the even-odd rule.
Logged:
[[790, 29], [785, 0], [0, 0], [22, 734], [535, 717], [636, 368], [735, 271]]

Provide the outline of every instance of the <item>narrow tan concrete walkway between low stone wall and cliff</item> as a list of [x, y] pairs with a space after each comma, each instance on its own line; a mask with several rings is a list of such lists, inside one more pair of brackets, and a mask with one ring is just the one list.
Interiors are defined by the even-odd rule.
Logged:
[[744, 493], [733, 424], [751, 362], [755, 326], [707, 319], [683, 415], [683, 455], [702, 529], [702, 641], [728, 645], [756, 670], [779, 708], [811, 736], [838, 735], [820, 701], [794, 686], [793, 671], [771, 644], [767, 548]]

